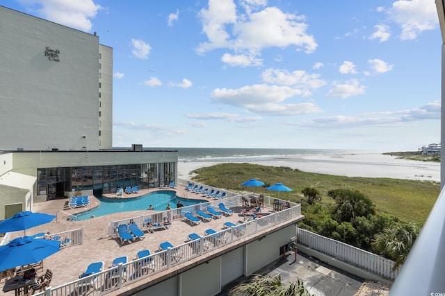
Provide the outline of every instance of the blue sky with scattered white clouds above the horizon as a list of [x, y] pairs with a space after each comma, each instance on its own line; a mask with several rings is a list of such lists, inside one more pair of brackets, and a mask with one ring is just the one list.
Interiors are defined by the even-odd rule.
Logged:
[[113, 48], [113, 146], [440, 142], [435, 0], [3, 0]]

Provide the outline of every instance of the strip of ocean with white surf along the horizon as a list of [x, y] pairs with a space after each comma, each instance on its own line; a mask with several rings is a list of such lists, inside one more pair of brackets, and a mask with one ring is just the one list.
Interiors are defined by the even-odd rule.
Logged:
[[346, 149], [270, 149], [270, 148], [144, 148], [178, 150], [178, 162], [258, 162], [286, 160], [293, 155], [338, 155], [368, 153]]

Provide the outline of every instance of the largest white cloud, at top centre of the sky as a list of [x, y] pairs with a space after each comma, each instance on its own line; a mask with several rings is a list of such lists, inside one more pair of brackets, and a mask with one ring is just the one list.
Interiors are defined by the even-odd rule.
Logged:
[[312, 53], [317, 48], [314, 37], [307, 34], [307, 24], [302, 21], [304, 16], [284, 13], [276, 7], [252, 12], [265, 6], [266, 1], [243, 1], [241, 4], [245, 14], [240, 12], [239, 16], [232, 0], [209, 0], [208, 9], [200, 10], [202, 31], [209, 42], [200, 44], [197, 53], [227, 48], [238, 54], [246, 51], [259, 55], [268, 47], [290, 45]]

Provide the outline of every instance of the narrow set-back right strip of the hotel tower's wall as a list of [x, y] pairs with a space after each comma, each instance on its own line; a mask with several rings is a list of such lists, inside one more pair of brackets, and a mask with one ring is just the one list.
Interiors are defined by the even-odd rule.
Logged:
[[99, 45], [99, 149], [113, 148], [113, 49]]

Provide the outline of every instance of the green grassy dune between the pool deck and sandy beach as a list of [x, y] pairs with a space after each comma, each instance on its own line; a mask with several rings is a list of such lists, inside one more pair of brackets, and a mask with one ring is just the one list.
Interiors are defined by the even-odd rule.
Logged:
[[[232, 191], [254, 191], [274, 197], [300, 202], [301, 190], [314, 187], [322, 195], [322, 203], [331, 204], [327, 197], [331, 189], [355, 189], [371, 198], [377, 210], [392, 214], [412, 223], [423, 223], [437, 197], [439, 182], [414, 181], [389, 178], [342, 177], [305, 173], [288, 167], [261, 166], [258, 164], [217, 164], [193, 171], [196, 182]], [[266, 183], [264, 187], [245, 187], [241, 183], [256, 178]], [[266, 186], [281, 182], [293, 189], [291, 192], [266, 190]]]

